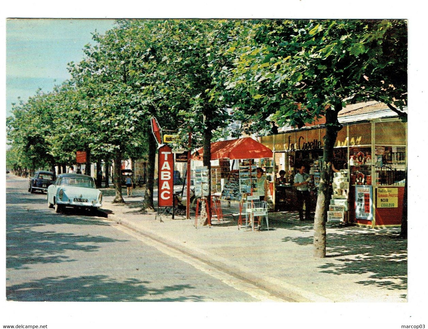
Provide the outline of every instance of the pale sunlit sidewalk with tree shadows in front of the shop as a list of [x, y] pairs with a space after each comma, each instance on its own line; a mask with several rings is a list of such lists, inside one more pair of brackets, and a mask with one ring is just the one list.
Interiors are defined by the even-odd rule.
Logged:
[[[103, 190], [108, 219], [244, 278], [291, 302], [406, 302], [407, 240], [399, 228], [374, 230], [327, 223], [327, 257], [314, 258], [313, 223], [296, 212], [269, 213], [270, 230], [238, 230], [238, 216], [212, 226], [140, 212], [143, 191], [124, 193], [113, 204]], [[109, 195], [111, 194], [111, 195]], [[223, 213], [239, 212], [237, 203], [222, 202]]]

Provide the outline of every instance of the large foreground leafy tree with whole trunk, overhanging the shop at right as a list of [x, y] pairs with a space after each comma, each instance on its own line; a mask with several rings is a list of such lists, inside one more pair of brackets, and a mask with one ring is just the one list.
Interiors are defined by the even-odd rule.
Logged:
[[[252, 40], [238, 53], [229, 88], [259, 101], [279, 125], [303, 126], [326, 118], [321, 182], [314, 223], [316, 257], [325, 256], [328, 185], [337, 132], [337, 115], [347, 102], [377, 99], [406, 104], [404, 21], [261, 21], [245, 31]], [[404, 47], [404, 48], [403, 48]], [[244, 110], [245, 104], [239, 104]]]

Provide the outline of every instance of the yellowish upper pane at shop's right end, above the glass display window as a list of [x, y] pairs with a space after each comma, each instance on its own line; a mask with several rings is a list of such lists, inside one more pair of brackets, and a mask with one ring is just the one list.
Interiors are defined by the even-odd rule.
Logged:
[[401, 121], [375, 123], [375, 144], [406, 145], [406, 124]]

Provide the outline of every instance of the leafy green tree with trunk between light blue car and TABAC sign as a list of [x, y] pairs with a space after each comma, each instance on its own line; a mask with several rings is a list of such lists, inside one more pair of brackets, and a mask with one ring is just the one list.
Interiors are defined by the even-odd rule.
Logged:
[[113, 158], [114, 202], [123, 202], [121, 162], [144, 144], [137, 132], [146, 112], [132, 87], [131, 45], [124, 31], [112, 29], [93, 39], [97, 44], [86, 46], [86, 58], [78, 65], [71, 63], [70, 72], [87, 112], [84, 128], [92, 134], [88, 147], [94, 154]]

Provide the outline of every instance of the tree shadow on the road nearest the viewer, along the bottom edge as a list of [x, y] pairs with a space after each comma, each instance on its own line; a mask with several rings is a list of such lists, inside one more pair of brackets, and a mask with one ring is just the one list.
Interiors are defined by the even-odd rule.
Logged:
[[187, 294], [189, 284], [174, 284], [160, 289], [149, 281], [128, 278], [118, 281], [107, 275], [70, 278], [48, 277], [6, 287], [7, 300], [57, 302], [200, 302], [202, 296]]

